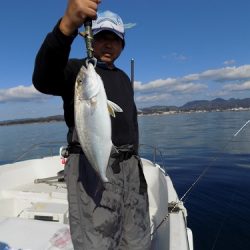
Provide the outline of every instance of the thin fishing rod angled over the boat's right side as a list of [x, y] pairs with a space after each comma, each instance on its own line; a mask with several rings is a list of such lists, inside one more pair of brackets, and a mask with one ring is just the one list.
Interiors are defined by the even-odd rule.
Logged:
[[217, 159], [221, 156], [221, 154], [224, 152], [224, 150], [227, 148], [227, 146], [234, 140], [234, 138], [236, 136], [238, 136], [238, 134], [247, 126], [247, 124], [250, 122], [250, 120], [248, 120], [243, 126], [240, 127], [239, 130], [237, 130], [233, 136], [231, 137], [231, 139], [229, 139], [224, 146], [221, 149], [221, 152], [215, 156], [210, 163], [208, 164], [208, 166], [201, 172], [201, 174], [198, 176], [198, 178], [192, 183], [192, 185], [188, 188], [188, 190], [183, 194], [183, 196], [179, 199], [178, 202], [175, 203], [175, 205], [173, 206], [173, 208], [170, 210], [170, 212], [168, 212], [168, 214], [162, 219], [162, 221], [155, 227], [155, 229], [153, 230], [153, 232], [151, 233], [151, 236], [153, 236], [156, 231], [160, 228], [160, 226], [164, 223], [167, 222], [169, 215], [178, 207], [179, 204], [182, 204], [187, 200], [188, 195], [191, 193], [192, 189], [197, 185], [197, 183], [202, 179], [202, 177], [206, 174], [206, 172], [209, 170], [209, 168], [211, 168], [212, 163], [214, 163], [215, 161], [217, 161]]

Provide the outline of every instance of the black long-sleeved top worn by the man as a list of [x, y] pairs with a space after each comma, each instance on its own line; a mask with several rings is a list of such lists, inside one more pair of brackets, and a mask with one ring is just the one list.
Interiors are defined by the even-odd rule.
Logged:
[[[33, 84], [45, 94], [61, 96], [65, 122], [69, 128], [68, 143], [77, 141], [74, 129], [74, 84], [84, 59], [68, 59], [71, 44], [77, 32], [67, 37], [59, 30], [59, 23], [45, 38], [35, 61]], [[103, 64], [96, 66], [101, 76], [107, 98], [119, 105], [122, 113], [111, 118], [112, 142], [115, 146], [133, 144], [138, 149], [137, 110], [129, 77], [120, 69], [108, 69]]]

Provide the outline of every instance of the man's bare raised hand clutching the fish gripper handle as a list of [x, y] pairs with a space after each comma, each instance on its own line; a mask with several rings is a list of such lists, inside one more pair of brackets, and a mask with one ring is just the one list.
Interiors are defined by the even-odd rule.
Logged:
[[70, 36], [86, 18], [96, 19], [98, 4], [101, 0], [68, 0], [68, 6], [60, 23], [63, 34]]

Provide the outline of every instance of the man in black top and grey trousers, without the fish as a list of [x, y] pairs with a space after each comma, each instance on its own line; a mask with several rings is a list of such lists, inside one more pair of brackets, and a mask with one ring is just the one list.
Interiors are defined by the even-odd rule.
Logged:
[[[112, 142], [103, 184], [83, 154], [74, 126], [74, 83], [85, 59], [68, 59], [70, 46], [86, 18], [96, 18], [98, 0], [69, 0], [66, 12], [45, 38], [36, 57], [34, 86], [63, 99], [69, 128], [65, 167], [70, 231], [74, 249], [150, 249], [147, 184], [138, 152], [137, 112], [128, 76], [114, 65], [125, 46], [121, 18], [104, 12], [93, 21], [96, 72], [107, 97], [123, 112], [111, 118]], [[118, 153], [117, 153], [118, 152]]]

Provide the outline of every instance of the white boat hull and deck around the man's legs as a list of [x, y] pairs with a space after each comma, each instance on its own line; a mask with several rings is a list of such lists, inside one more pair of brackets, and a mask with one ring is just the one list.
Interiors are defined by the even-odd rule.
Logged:
[[[58, 155], [0, 166], [0, 250], [73, 249], [61, 160]], [[144, 158], [142, 163], [152, 249], [193, 250], [187, 211], [170, 177], [158, 164]]]

